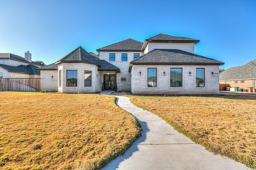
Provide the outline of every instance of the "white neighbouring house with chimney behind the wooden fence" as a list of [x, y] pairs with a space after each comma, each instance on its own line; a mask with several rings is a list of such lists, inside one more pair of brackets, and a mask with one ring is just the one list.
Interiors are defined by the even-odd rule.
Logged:
[[42, 65], [31, 60], [27, 51], [25, 57], [11, 53], [0, 53], [0, 78], [40, 78]]

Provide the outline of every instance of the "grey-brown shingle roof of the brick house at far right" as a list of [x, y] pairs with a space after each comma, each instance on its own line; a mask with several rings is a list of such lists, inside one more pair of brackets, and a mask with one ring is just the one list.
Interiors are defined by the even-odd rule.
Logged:
[[256, 79], [256, 59], [249, 63], [231, 67], [220, 73], [220, 81]]

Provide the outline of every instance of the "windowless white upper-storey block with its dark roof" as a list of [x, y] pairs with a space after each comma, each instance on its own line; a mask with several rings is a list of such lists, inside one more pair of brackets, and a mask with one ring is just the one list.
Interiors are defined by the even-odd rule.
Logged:
[[146, 54], [153, 49], [180, 49], [182, 51], [194, 53], [194, 45], [199, 41], [200, 40], [194, 38], [158, 34], [146, 39], [141, 51], [144, 51]]

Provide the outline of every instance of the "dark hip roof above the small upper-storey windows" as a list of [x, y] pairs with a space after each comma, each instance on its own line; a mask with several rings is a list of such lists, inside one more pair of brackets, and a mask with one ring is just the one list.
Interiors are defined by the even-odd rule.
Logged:
[[97, 49], [97, 51], [140, 51], [143, 43], [131, 38]]

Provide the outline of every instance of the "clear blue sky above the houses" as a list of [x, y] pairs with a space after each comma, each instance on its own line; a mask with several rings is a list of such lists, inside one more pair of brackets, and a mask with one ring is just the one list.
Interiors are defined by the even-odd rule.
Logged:
[[256, 0], [1, 0], [0, 53], [51, 64], [86, 51], [159, 33], [199, 39], [195, 53], [225, 62], [256, 59]]

